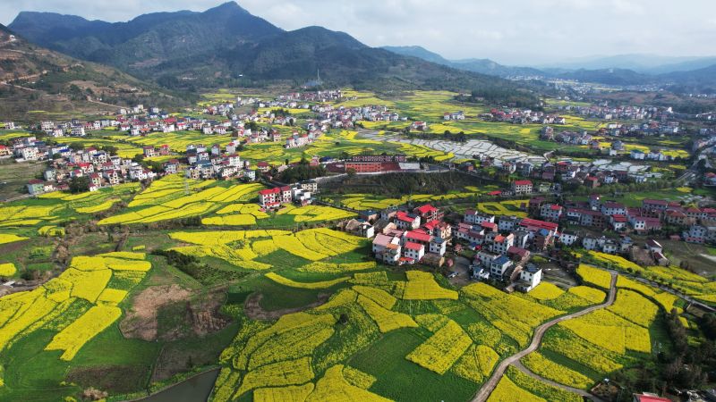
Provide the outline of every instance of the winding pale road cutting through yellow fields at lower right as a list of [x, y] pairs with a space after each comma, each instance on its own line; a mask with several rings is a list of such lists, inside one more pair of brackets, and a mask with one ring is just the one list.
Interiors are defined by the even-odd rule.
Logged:
[[578, 311], [573, 314], [567, 314], [562, 315], [561, 317], [555, 318], [554, 320], [550, 322], [545, 322], [541, 324], [539, 327], [537, 327], [536, 330], [534, 330], [534, 335], [532, 339], [532, 343], [530, 343], [530, 346], [525, 348], [524, 350], [517, 352], [515, 355], [507, 357], [505, 360], [500, 362], [498, 367], [495, 369], [494, 373], [492, 373], [492, 376], [490, 377], [490, 380], [482, 384], [482, 388], [477, 391], [477, 394], [473, 398], [473, 402], [484, 402], [487, 400], [487, 398], [490, 397], [490, 394], [492, 393], [492, 390], [497, 387], [499, 380], [502, 378], [502, 376], [507, 371], [507, 367], [509, 367], [511, 364], [516, 364], [519, 362], [521, 358], [524, 356], [529, 355], [530, 353], [537, 350], [537, 348], [540, 348], [540, 344], [542, 339], [544, 338], [545, 332], [549, 330], [551, 327], [557, 325], [559, 322], [571, 320], [573, 318], [581, 317], [584, 314], [592, 313], [593, 311], [599, 310], [601, 308], [609, 307], [614, 304], [614, 300], [617, 297], [617, 275], [615, 273], [611, 273], [611, 284], [609, 285], [609, 297], [607, 297], [607, 301], [604, 302], [601, 305], [598, 306], [591, 306], [588, 308], [585, 308], [584, 310]]

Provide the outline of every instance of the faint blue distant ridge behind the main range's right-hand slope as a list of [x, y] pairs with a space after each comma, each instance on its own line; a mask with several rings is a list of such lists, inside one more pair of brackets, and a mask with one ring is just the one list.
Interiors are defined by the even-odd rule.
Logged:
[[430, 63], [438, 63], [452, 67], [458, 70], [473, 71], [486, 75], [494, 75], [497, 77], [516, 77], [516, 76], [543, 76], [544, 72], [530, 67], [511, 67], [493, 62], [490, 59], [464, 59], [464, 60], [447, 60], [443, 56], [430, 52], [422, 46], [383, 46], [390, 52], [413, 56]]

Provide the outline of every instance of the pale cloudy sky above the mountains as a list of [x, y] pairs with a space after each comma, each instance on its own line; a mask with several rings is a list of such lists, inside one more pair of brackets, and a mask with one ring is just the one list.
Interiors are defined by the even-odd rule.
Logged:
[[[203, 11], [224, 0], [2, 0], [21, 11], [128, 21], [142, 13]], [[347, 32], [369, 46], [420, 45], [448, 59], [548, 64], [592, 55], [716, 55], [714, 0], [240, 0], [280, 28]]]

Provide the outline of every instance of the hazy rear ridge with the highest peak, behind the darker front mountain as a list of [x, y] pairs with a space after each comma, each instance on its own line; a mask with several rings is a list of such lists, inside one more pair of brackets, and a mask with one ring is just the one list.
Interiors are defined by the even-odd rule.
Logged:
[[283, 32], [233, 2], [203, 13], [149, 13], [115, 23], [22, 12], [9, 28], [39, 46], [138, 71]]

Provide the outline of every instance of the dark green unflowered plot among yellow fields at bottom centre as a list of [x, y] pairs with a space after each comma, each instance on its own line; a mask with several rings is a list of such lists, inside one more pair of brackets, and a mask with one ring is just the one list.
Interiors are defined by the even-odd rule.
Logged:
[[[405, 359], [414, 348], [430, 337], [423, 329], [401, 329], [383, 335], [349, 364], [376, 377], [370, 388], [394, 400], [464, 401], [477, 386], [453, 373], [439, 375]], [[418, 385], [419, 384], [419, 385]]]

